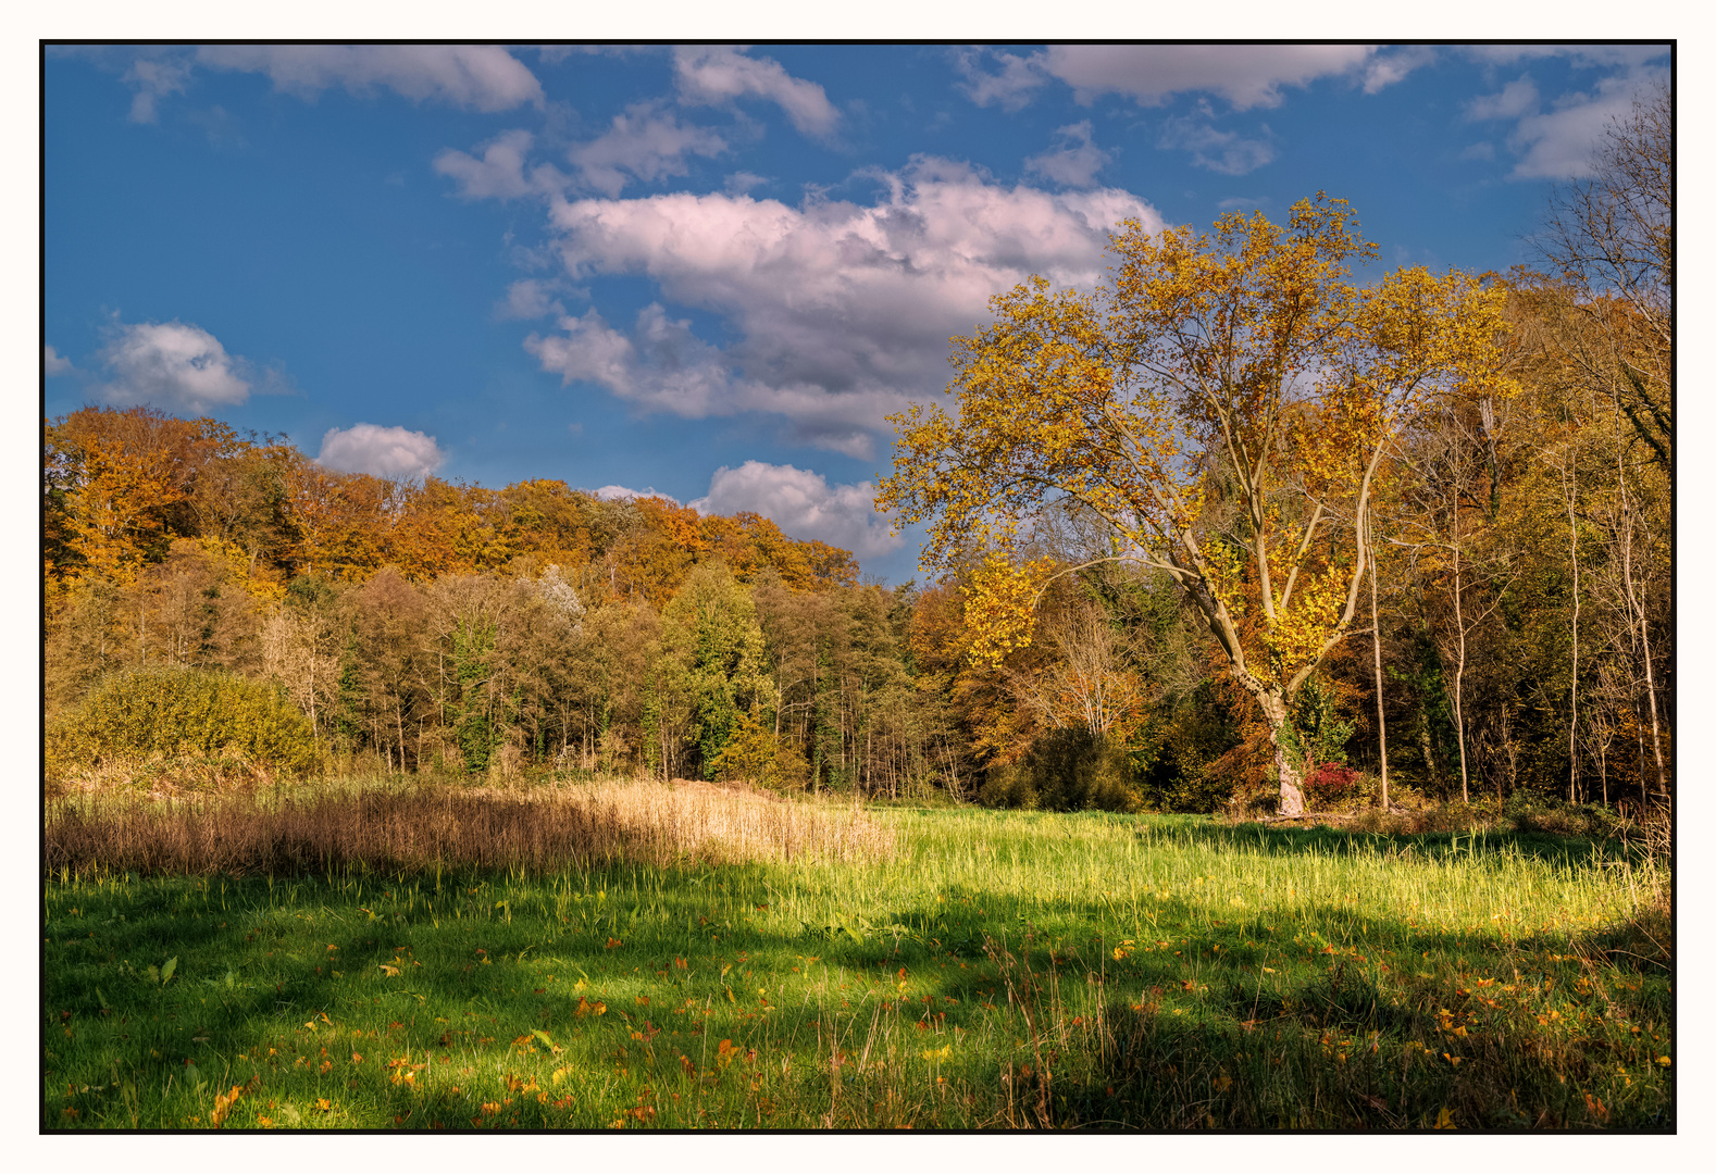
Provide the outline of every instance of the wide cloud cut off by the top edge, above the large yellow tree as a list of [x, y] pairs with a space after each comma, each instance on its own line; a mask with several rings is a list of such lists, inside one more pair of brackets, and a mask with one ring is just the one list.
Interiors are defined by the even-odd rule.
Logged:
[[[1308, 86], [1320, 77], [1354, 76], [1376, 55], [1375, 45], [1052, 45], [1030, 57], [992, 51], [999, 72], [980, 57], [956, 58], [963, 89], [978, 105], [1018, 110], [1048, 79], [1072, 88], [1090, 105], [1102, 94], [1124, 94], [1157, 106], [1181, 93], [1211, 93], [1236, 110], [1278, 106], [1282, 86]], [[1388, 58], [1364, 77], [1375, 93], [1412, 67], [1407, 57]]]

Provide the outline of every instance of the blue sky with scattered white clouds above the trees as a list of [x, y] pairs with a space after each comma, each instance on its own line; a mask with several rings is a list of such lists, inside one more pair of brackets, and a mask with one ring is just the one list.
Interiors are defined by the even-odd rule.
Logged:
[[141, 403], [336, 469], [757, 510], [916, 573], [889, 412], [1105, 230], [1349, 199], [1505, 269], [1651, 46], [63, 48], [46, 414]]

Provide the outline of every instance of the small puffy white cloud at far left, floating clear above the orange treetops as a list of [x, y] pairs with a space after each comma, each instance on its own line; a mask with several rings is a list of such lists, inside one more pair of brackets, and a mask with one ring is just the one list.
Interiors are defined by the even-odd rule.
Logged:
[[115, 324], [101, 362], [112, 374], [100, 390], [108, 403], [202, 414], [251, 395], [244, 359], [228, 355], [201, 326], [178, 321]]

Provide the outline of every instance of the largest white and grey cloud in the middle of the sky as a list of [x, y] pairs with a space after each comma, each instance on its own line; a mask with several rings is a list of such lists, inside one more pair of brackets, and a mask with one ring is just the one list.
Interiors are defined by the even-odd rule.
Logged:
[[1033, 273], [1088, 287], [1110, 227], [1162, 227], [1131, 192], [1004, 187], [944, 160], [880, 180], [872, 204], [554, 199], [573, 280], [647, 276], [664, 300], [719, 314], [736, 342], [714, 347], [650, 306], [630, 331], [590, 311], [525, 345], [568, 383], [597, 383], [640, 410], [770, 412], [795, 439], [867, 457], [884, 415], [946, 386], [947, 338], [985, 321], [990, 297]]

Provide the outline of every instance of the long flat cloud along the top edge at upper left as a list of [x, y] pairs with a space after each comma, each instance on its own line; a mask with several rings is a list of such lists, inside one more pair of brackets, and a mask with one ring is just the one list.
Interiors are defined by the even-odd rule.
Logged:
[[343, 86], [386, 88], [412, 101], [444, 101], [494, 113], [542, 105], [542, 86], [498, 45], [206, 45], [211, 69], [268, 74], [276, 89], [314, 98]]

